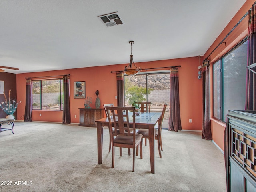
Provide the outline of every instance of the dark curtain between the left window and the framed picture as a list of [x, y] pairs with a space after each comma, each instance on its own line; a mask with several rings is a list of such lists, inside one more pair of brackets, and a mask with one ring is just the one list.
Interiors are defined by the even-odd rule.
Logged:
[[64, 106], [63, 106], [63, 118], [62, 124], [70, 124], [70, 105], [69, 105], [69, 75], [63, 76], [63, 94], [64, 94]]

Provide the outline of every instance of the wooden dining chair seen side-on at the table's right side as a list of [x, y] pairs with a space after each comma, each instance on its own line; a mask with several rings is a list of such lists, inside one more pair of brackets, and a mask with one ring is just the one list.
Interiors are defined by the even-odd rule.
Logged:
[[[162, 146], [162, 123], [163, 123], [163, 120], [164, 120], [164, 113], [165, 113], [165, 110], [166, 110], [166, 106], [167, 106], [167, 104], [164, 104], [164, 108], [162, 110], [161, 116], [158, 118], [158, 121], [157, 121], [158, 128], [155, 128], [155, 140], [157, 140], [158, 151], [159, 151], [160, 158], [162, 158], [161, 150], [163, 150], [163, 146]], [[145, 138], [145, 139], [149, 138], [148, 137], [148, 129], [139, 129], [137, 131], [137, 133], [142, 134], [143, 138]], [[136, 154], [138, 155], [138, 150], [137, 150]]]

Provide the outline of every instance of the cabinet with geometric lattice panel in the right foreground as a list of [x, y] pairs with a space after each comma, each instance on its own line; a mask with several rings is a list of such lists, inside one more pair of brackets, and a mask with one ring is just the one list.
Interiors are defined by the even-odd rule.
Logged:
[[224, 156], [227, 191], [256, 191], [256, 111], [228, 112]]

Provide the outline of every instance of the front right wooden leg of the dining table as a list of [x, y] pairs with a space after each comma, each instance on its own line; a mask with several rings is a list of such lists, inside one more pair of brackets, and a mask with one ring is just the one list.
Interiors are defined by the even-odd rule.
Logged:
[[149, 136], [151, 173], [155, 173], [155, 130], [154, 130], [154, 126], [152, 125], [148, 127], [148, 136]]

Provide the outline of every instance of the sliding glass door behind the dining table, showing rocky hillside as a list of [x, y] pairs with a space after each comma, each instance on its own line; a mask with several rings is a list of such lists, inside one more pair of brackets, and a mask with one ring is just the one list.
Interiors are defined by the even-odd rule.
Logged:
[[151, 112], [161, 112], [164, 104], [168, 104], [162, 128], [168, 127], [170, 72], [124, 75], [124, 98], [125, 106], [132, 106], [133, 102], [151, 102]]

